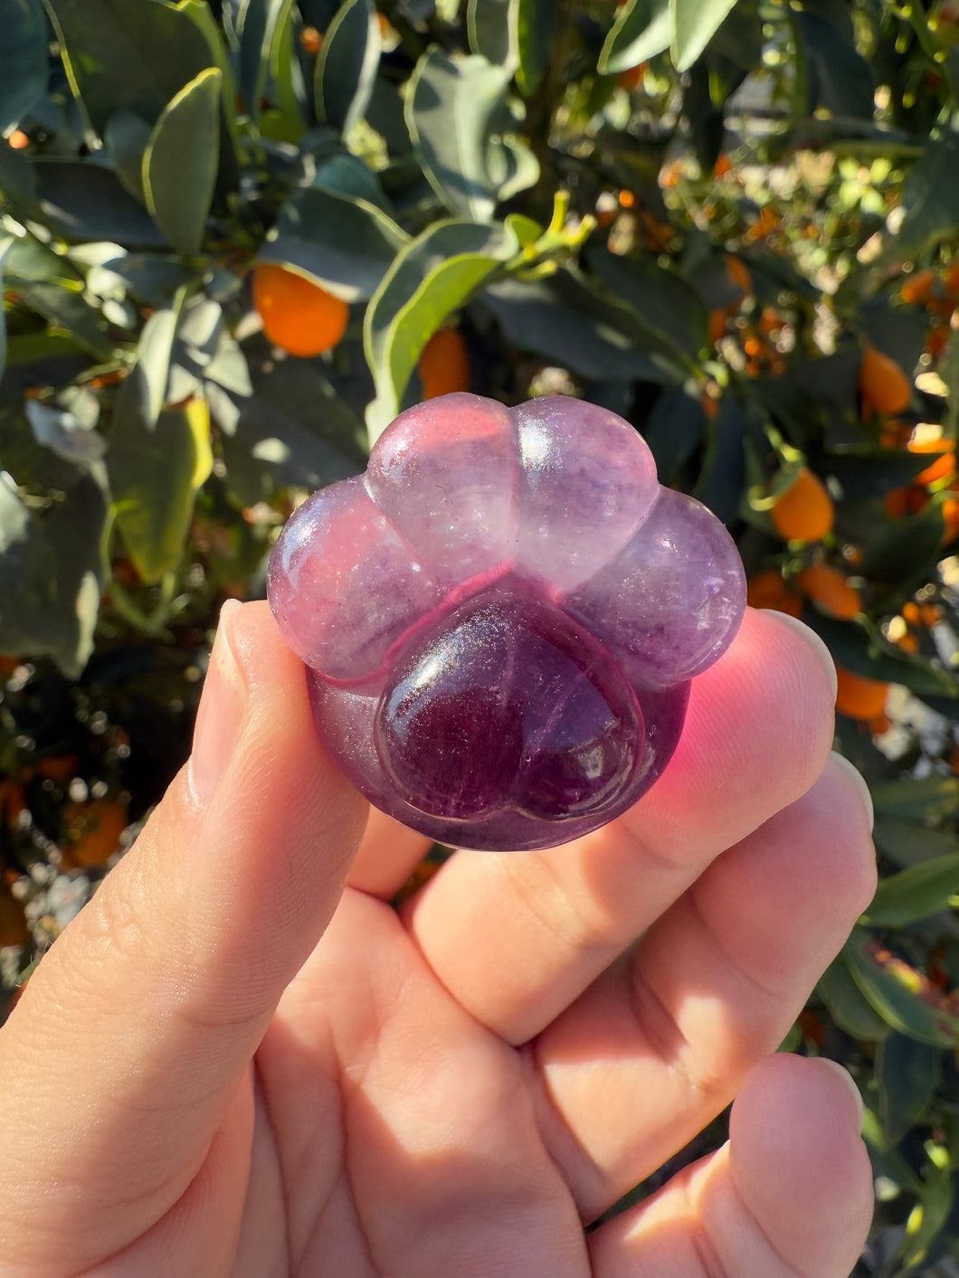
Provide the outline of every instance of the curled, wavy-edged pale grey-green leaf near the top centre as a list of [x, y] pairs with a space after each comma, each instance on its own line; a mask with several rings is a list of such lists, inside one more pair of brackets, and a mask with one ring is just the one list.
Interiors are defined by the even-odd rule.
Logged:
[[509, 128], [509, 69], [478, 54], [453, 59], [436, 46], [410, 79], [407, 124], [423, 173], [450, 212], [477, 222], [492, 220], [504, 188], [513, 196], [538, 176], [528, 148], [497, 132]]

